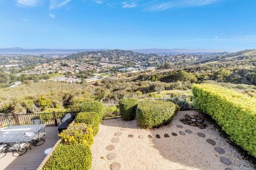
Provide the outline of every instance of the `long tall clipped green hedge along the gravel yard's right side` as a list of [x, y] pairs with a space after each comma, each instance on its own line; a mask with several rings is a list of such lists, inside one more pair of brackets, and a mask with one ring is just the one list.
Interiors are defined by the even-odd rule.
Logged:
[[232, 141], [256, 157], [256, 99], [213, 84], [193, 86], [195, 108], [209, 114]]

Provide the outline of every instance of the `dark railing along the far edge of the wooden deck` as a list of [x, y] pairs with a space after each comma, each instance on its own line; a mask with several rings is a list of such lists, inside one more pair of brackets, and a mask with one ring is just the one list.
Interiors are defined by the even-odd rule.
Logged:
[[39, 119], [46, 125], [58, 126], [60, 120], [68, 113], [77, 115], [79, 112], [52, 112], [30, 114], [0, 114], [0, 128], [8, 125], [31, 125], [32, 121]]

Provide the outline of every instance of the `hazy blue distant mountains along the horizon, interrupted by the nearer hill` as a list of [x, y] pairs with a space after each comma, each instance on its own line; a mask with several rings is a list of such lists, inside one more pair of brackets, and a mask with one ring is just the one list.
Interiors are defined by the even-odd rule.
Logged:
[[[79, 52], [93, 52], [98, 50], [107, 49], [25, 49], [20, 47], [14, 48], [0, 48], [0, 54], [71, 54]], [[170, 55], [170, 54], [211, 54], [221, 52], [220, 50], [212, 49], [134, 49], [133, 52], [145, 53], [145, 54], [159, 54], [159, 55]]]

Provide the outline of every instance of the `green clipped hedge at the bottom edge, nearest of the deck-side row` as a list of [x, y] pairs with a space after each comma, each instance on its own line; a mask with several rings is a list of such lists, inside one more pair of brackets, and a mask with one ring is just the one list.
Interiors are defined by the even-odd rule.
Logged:
[[53, 154], [46, 161], [43, 170], [90, 170], [92, 154], [90, 148], [84, 145], [63, 145], [55, 148]]

